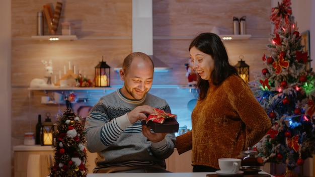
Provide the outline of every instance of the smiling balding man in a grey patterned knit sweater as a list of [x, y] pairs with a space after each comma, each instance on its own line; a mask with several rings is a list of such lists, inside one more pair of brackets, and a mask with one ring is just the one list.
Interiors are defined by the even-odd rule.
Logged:
[[129, 54], [119, 74], [122, 88], [102, 97], [86, 119], [86, 146], [97, 152], [94, 173], [169, 172], [165, 159], [174, 151], [174, 133], [153, 133], [141, 121], [154, 108], [171, 113], [169, 104], [148, 93], [153, 62], [141, 52]]

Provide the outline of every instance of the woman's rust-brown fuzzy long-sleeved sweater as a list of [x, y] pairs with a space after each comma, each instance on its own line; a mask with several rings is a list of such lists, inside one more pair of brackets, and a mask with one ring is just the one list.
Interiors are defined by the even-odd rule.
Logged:
[[265, 110], [242, 78], [230, 75], [213, 85], [192, 111], [192, 130], [177, 137], [178, 153], [192, 149], [192, 165], [219, 169], [219, 158], [237, 158], [271, 128]]

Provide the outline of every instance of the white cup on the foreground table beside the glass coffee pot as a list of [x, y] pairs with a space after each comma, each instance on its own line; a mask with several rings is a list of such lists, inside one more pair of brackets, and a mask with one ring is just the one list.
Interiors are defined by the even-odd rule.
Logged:
[[219, 158], [220, 170], [224, 173], [237, 173], [241, 167], [241, 159], [238, 158]]

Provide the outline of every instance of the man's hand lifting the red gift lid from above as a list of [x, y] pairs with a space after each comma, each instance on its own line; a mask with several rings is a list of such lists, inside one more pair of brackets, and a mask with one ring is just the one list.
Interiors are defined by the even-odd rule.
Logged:
[[145, 113], [154, 114], [154, 109], [147, 105], [137, 106], [135, 109], [128, 113], [129, 122], [133, 124], [138, 120], [146, 120], [147, 117]]

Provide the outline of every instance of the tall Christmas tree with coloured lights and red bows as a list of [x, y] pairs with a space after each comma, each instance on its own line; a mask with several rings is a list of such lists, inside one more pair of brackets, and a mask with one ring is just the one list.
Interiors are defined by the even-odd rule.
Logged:
[[250, 86], [272, 122], [258, 143], [259, 155], [294, 169], [315, 153], [315, 74], [290, 6], [283, 0], [272, 8], [270, 54], [263, 55], [265, 68]]

